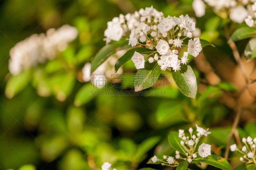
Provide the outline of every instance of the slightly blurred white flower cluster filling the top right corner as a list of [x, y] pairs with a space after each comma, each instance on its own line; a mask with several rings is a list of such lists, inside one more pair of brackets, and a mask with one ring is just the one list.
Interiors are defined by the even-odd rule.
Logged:
[[194, 0], [193, 9], [197, 17], [205, 14], [205, 4], [212, 6], [215, 12], [225, 12], [229, 18], [237, 23], [256, 26], [256, 0]]

